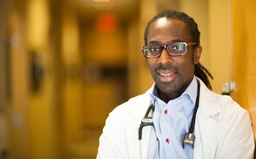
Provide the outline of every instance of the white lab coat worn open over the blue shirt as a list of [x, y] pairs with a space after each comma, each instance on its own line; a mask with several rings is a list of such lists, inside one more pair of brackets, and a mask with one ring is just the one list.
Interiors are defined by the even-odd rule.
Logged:
[[[200, 84], [194, 159], [252, 159], [254, 136], [248, 112], [229, 96], [210, 91], [201, 80]], [[99, 138], [97, 159], [140, 158], [138, 130], [150, 104], [153, 86], [109, 114]], [[147, 155], [150, 129], [151, 126], [142, 129], [143, 159]]]

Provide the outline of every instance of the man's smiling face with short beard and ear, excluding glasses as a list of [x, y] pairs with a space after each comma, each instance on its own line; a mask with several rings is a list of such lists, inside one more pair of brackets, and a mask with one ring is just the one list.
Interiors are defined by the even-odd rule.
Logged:
[[[176, 19], [160, 18], [149, 28], [147, 42], [149, 44], [167, 45], [174, 42], [193, 42], [184, 22]], [[201, 55], [196, 49], [193, 56], [192, 47], [187, 47], [187, 53], [181, 56], [170, 56], [165, 49], [157, 58], [147, 58], [151, 75], [159, 88], [160, 94], [168, 94], [177, 98], [187, 88], [194, 76], [194, 64]]]

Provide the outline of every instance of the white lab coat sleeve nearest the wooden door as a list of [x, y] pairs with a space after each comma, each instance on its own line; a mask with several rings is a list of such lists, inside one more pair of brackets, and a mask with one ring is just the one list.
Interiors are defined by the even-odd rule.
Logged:
[[[229, 121], [237, 121], [230, 123]], [[246, 110], [240, 110], [229, 118], [226, 118], [223, 126], [226, 127], [227, 136], [223, 147], [223, 158], [229, 159], [253, 159], [254, 153], [254, 136], [251, 126], [251, 120]], [[229, 125], [229, 126], [228, 126]]]

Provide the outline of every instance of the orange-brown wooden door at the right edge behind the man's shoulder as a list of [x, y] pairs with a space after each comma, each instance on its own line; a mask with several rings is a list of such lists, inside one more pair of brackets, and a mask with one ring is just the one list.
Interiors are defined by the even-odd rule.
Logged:
[[[233, 98], [247, 109], [256, 139], [256, 1], [232, 0]], [[255, 140], [256, 141], [256, 140]], [[256, 152], [256, 151], [255, 151]], [[256, 153], [254, 153], [256, 158]]]

